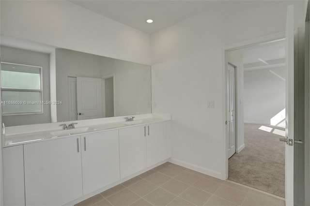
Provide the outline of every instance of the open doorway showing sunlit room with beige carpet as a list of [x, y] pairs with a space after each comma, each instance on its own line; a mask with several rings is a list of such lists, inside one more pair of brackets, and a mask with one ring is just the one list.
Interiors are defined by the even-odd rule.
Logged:
[[[284, 198], [285, 146], [279, 138], [285, 136], [285, 41], [245, 46], [229, 51], [227, 57], [238, 64], [237, 70], [243, 70], [238, 79], [243, 88], [237, 89], [239, 100], [234, 101], [236, 69], [227, 65], [227, 79], [232, 79], [227, 81], [231, 93], [227, 97], [228, 179]], [[243, 122], [235, 117], [235, 104], [243, 110]], [[243, 135], [239, 131], [238, 146], [233, 136], [236, 121], [244, 128]]]

